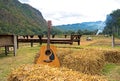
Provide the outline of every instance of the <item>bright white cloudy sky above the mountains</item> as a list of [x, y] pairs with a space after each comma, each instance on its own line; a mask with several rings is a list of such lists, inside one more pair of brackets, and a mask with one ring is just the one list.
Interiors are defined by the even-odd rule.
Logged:
[[105, 21], [120, 0], [19, 0], [39, 10], [52, 25]]

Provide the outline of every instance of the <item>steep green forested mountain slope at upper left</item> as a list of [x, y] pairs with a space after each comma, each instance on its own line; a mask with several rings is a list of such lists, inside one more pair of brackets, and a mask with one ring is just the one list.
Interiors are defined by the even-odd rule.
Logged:
[[45, 29], [40, 11], [18, 0], [0, 0], [0, 34], [40, 34]]

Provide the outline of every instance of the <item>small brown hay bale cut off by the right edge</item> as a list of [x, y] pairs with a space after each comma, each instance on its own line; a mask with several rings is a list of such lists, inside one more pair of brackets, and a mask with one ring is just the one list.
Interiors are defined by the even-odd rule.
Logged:
[[120, 63], [120, 51], [106, 50], [104, 51], [105, 61], [110, 63]]

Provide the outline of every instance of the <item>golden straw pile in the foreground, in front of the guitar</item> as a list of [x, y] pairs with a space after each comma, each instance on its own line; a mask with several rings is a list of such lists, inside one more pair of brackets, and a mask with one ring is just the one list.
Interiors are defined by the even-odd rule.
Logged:
[[91, 76], [67, 68], [47, 65], [23, 65], [9, 75], [8, 81], [107, 81], [102, 76]]

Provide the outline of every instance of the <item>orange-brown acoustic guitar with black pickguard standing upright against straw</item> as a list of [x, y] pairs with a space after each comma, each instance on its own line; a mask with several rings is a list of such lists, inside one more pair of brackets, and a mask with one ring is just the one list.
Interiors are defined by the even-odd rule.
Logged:
[[51, 28], [51, 21], [48, 21], [48, 39], [47, 39], [47, 46], [41, 46], [40, 49], [40, 56], [38, 57], [37, 64], [47, 64], [50, 66], [59, 67], [60, 62], [56, 55], [56, 47], [50, 45], [50, 28]]

